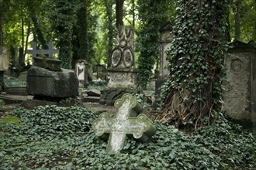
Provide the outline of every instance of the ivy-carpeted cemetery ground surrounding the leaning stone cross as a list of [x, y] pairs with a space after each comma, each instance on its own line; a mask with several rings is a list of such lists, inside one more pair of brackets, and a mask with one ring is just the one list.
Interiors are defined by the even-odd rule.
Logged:
[[[141, 98], [137, 100], [144, 104]], [[112, 107], [87, 103], [85, 107], [47, 105], [28, 110], [1, 105], [0, 169], [256, 167], [252, 134], [228, 121], [225, 113], [219, 113], [214, 124], [193, 133], [153, 120], [157, 132], [149, 142], [128, 137], [123, 150], [112, 154], [106, 152], [107, 141], [92, 130], [102, 111], [114, 114]]]

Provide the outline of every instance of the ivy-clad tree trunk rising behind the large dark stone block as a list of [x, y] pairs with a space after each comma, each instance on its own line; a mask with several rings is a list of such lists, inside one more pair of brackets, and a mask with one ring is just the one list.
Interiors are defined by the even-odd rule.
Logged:
[[75, 12], [78, 10], [78, 0], [48, 0], [47, 4], [50, 8], [51, 29], [57, 41], [57, 47], [60, 48], [61, 67], [71, 69], [73, 56], [71, 41], [74, 39], [73, 27], [77, 22]]

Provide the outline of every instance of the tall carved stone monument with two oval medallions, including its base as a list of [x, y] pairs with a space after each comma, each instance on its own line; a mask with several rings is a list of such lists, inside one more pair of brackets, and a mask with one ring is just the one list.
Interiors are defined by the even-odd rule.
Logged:
[[107, 89], [102, 91], [100, 104], [112, 105], [124, 93], [136, 91], [133, 39], [133, 26], [119, 26], [117, 45], [112, 51], [111, 66], [107, 70], [110, 80]]

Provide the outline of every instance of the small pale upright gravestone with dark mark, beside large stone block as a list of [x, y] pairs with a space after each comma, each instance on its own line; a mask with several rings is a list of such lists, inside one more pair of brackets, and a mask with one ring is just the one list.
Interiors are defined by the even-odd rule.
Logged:
[[78, 76], [78, 87], [85, 87], [88, 83], [88, 63], [85, 59], [78, 59], [74, 68], [75, 74]]

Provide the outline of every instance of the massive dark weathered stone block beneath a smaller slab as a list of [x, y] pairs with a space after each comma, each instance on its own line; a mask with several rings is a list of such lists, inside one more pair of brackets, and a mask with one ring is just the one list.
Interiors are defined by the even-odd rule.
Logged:
[[29, 95], [47, 97], [78, 96], [78, 77], [73, 70], [50, 71], [39, 66], [31, 66], [27, 73]]

